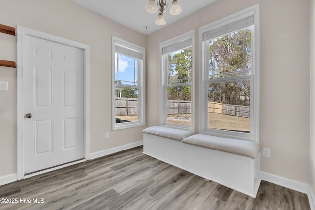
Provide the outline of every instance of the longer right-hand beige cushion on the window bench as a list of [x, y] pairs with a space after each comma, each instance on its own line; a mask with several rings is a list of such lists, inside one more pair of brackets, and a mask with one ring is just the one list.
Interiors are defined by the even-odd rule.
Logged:
[[196, 134], [182, 140], [183, 143], [210, 148], [213, 150], [225, 151], [233, 154], [256, 158], [260, 146], [255, 142], [221, 138], [205, 134]]

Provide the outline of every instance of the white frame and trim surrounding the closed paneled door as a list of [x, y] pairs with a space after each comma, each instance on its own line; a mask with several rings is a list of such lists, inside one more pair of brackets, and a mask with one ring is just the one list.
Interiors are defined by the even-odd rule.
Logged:
[[[26, 178], [24, 170], [24, 104], [23, 104], [23, 43], [26, 35], [56, 42], [59, 44], [76, 47], [84, 51], [84, 160], [90, 159], [90, 46], [71, 41], [59, 36], [17, 26], [17, 180]], [[43, 170], [27, 177], [52, 171], [68, 165], [76, 164], [75, 161], [56, 168]]]

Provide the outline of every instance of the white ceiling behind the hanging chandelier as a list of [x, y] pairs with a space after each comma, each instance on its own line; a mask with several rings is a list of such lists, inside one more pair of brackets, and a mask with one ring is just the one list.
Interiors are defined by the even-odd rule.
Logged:
[[[128, 28], [136, 30], [144, 35], [153, 33], [165, 26], [174, 23], [189, 14], [213, 3], [216, 0], [178, 0], [183, 7], [181, 14], [173, 16], [169, 13], [172, 6], [172, 0], [167, 0], [169, 4], [166, 7], [164, 18], [166, 24], [158, 26], [155, 21], [158, 18], [158, 12], [149, 14], [145, 10], [145, 5], [149, 0], [72, 0], [88, 9], [91, 9], [113, 21], [116, 21]], [[156, 2], [158, 2], [156, 0]]]

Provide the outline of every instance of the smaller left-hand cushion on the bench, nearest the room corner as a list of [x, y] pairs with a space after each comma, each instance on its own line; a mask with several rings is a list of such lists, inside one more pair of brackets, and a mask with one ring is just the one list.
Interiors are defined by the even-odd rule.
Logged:
[[168, 139], [177, 140], [177, 141], [182, 141], [186, 137], [189, 137], [194, 134], [193, 132], [190, 132], [190, 131], [162, 127], [162, 126], [148, 127], [144, 129], [142, 132], [156, 135], [156, 136], [165, 137]]

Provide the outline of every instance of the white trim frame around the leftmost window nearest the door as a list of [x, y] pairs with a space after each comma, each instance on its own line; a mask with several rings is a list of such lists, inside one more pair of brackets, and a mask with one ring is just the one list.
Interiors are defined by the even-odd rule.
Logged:
[[[116, 109], [115, 109], [115, 43], [126, 46], [128, 48], [134, 49], [138, 52], [141, 52], [143, 55], [142, 66], [140, 71], [138, 71], [138, 88], [139, 88], [139, 110], [137, 122], [124, 122], [116, 124]], [[140, 65], [140, 63], [138, 63]], [[132, 127], [138, 127], [145, 125], [145, 48], [135, 45], [133, 43], [127, 42], [123, 39], [112, 37], [112, 129], [120, 130]]]

